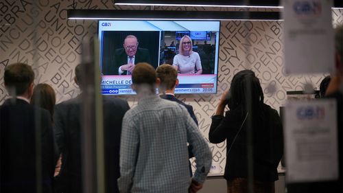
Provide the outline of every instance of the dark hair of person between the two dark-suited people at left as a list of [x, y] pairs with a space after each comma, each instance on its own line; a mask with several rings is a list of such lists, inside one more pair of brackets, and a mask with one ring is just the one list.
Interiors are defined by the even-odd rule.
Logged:
[[52, 117], [54, 117], [56, 94], [49, 84], [37, 84], [36, 87], [34, 87], [34, 93], [30, 103], [49, 111], [52, 120]]

